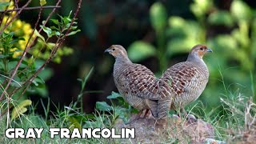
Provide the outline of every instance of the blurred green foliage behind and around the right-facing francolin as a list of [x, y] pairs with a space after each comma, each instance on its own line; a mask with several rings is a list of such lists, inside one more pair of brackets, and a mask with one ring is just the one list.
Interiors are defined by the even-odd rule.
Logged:
[[[135, 41], [128, 47], [130, 59], [139, 62], [149, 57], [158, 58], [160, 71], [157, 75], [161, 75], [171, 66], [167, 59], [171, 62], [177, 54], [187, 54], [192, 46], [206, 44], [214, 53], [204, 58], [210, 70], [210, 81], [200, 97], [202, 102], [209, 108], [218, 106], [221, 95], [232, 95], [222, 94], [223, 90], [226, 93], [238, 90], [254, 96], [256, 101], [256, 10], [241, 0], [231, 2], [230, 10], [219, 9], [213, 0], [194, 0], [190, 10], [194, 19], [176, 15], [167, 18], [165, 6], [155, 2], [150, 8], [150, 22], [156, 46]], [[219, 31], [218, 26], [226, 27], [227, 31]]]

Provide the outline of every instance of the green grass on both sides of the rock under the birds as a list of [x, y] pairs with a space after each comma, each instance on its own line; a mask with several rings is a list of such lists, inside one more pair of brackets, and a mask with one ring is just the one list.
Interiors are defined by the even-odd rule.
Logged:
[[[92, 70], [90, 70], [91, 73]], [[89, 75], [90, 75], [89, 73]], [[71, 103], [70, 106], [55, 106], [56, 111], [50, 111], [50, 99], [47, 105], [42, 104], [44, 115], [36, 114], [35, 106], [30, 106], [29, 110], [23, 114], [20, 113], [14, 121], [8, 122], [10, 114], [7, 113], [0, 117], [0, 143], [120, 143], [130, 140], [109, 139], [109, 138], [50, 138], [50, 127], [56, 128], [113, 128], [118, 119], [124, 122], [130, 118], [130, 114], [134, 113], [132, 109], [118, 93], [112, 93], [107, 98], [110, 99], [111, 106], [106, 102], [97, 102], [94, 114], [85, 114], [82, 111], [82, 94], [84, 86], [86, 86], [88, 75], [82, 80], [82, 90], [79, 94], [78, 101]], [[223, 85], [225, 86], [224, 82]], [[18, 106], [17, 102], [10, 99], [13, 106]], [[80, 104], [80, 105], [79, 105]], [[0, 111], [5, 110], [5, 106], [0, 107]], [[234, 91], [230, 93], [226, 91], [220, 97], [220, 105], [214, 109], [207, 110], [207, 107], [200, 101], [186, 108], [186, 111], [194, 114], [197, 118], [201, 118], [205, 122], [209, 122], [214, 127], [214, 139], [226, 142], [250, 142], [256, 135], [256, 104], [253, 98], [246, 97]], [[10, 119], [10, 118], [9, 118]], [[7, 124], [8, 123], [8, 124]], [[44, 128], [42, 138], [38, 139], [11, 139], [3, 136], [6, 127], [24, 128], [30, 127]], [[253, 139], [255, 141], [255, 139]], [[188, 142], [190, 140], [188, 139]], [[254, 142], [252, 141], [252, 142]], [[178, 143], [177, 139], [170, 138], [166, 142]]]

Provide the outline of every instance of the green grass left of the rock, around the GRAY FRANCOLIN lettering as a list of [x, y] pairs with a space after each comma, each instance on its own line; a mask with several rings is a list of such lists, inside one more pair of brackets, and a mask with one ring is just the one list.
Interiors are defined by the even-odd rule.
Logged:
[[[30, 110], [33, 110], [30, 107]], [[51, 112], [50, 112], [51, 113]], [[90, 118], [91, 117], [91, 118]], [[9, 127], [16, 128], [24, 128], [27, 130], [30, 127], [40, 127], [44, 128], [42, 132], [42, 138], [38, 139], [10, 139], [5, 137], [0, 137], [1, 143], [106, 143], [109, 142], [110, 139], [83, 139], [83, 138], [50, 138], [50, 132], [48, 131], [50, 127], [66, 127], [72, 130], [74, 127], [79, 129], [83, 128], [96, 128], [96, 127], [112, 127], [113, 122], [112, 119], [114, 114], [106, 114], [105, 112], [96, 111], [94, 115], [86, 115], [82, 113], [78, 113], [77, 110], [74, 110], [72, 106], [66, 106], [64, 110], [57, 110], [56, 113], [50, 115], [50, 117], [46, 120], [42, 116], [35, 114], [34, 111], [30, 111], [29, 114], [22, 115], [20, 118], [17, 118], [14, 122], [11, 122]], [[0, 126], [0, 134], [4, 135], [6, 130], [6, 117], [2, 118], [1, 126]], [[80, 120], [79, 120], [80, 119]]]

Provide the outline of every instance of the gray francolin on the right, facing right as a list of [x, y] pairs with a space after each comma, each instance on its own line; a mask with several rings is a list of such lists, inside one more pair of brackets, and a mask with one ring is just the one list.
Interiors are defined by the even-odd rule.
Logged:
[[202, 60], [207, 52], [212, 50], [205, 45], [194, 46], [186, 62], [171, 66], [159, 78], [158, 85], [164, 90], [170, 90], [170, 95], [158, 101], [158, 118], [165, 118], [169, 109], [179, 108], [186, 114], [184, 106], [202, 94], [209, 78], [208, 68]]

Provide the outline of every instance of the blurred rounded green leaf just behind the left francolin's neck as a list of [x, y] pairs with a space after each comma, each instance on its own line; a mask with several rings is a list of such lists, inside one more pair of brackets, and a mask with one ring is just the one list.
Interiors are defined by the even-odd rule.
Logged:
[[133, 42], [128, 47], [129, 58], [133, 62], [139, 62], [156, 54], [156, 49], [150, 43], [143, 41]]

